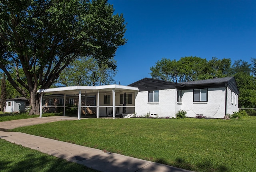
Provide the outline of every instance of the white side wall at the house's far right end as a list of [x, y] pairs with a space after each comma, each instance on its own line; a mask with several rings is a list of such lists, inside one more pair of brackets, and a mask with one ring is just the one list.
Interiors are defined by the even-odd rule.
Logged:
[[[233, 94], [233, 96], [232, 96]], [[232, 92], [228, 88], [227, 92], [227, 114], [232, 114], [235, 111], [238, 111], [238, 95]]]

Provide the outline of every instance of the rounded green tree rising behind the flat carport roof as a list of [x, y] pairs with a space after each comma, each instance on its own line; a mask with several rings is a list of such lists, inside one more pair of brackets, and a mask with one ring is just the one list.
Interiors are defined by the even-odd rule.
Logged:
[[[112, 63], [116, 64], [114, 59]], [[81, 57], [73, 61], [60, 73], [56, 80], [56, 85], [63, 86], [74, 85], [104, 85], [116, 84], [114, 76], [116, 71], [109, 68], [108, 65], [98, 65], [93, 57]]]

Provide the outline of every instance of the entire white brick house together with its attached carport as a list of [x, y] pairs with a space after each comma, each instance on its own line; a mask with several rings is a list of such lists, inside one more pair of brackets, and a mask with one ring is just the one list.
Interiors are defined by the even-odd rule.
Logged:
[[[71, 98], [76, 100], [78, 119], [82, 108], [95, 108], [97, 117], [115, 118], [115, 115], [131, 113], [143, 116], [149, 112], [155, 117], [176, 117], [177, 111], [185, 110], [188, 117], [224, 118], [226, 114], [238, 111], [239, 95], [234, 77], [182, 83], [144, 78], [128, 86], [70, 86], [37, 92], [41, 94], [40, 117], [42, 109], [49, 108], [44, 102], [53, 102], [53, 99], [50, 101], [52, 95], [45, 94], [60, 94], [64, 115], [65, 108], [68, 108], [66, 102]], [[85, 103], [87, 96], [95, 98], [94, 106]], [[56, 104], [54, 106], [57, 108]]]

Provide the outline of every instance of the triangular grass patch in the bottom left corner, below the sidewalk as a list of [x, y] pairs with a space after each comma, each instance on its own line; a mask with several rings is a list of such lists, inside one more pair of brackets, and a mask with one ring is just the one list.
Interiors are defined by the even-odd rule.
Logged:
[[1, 172], [96, 172], [86, 166], [0, 139]]

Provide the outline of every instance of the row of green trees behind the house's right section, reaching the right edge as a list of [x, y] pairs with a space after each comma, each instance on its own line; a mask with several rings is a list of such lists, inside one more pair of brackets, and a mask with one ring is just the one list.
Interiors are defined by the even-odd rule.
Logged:
[[151, 77], [172, 82], [186, 82], [234, 76], [240, 91], [239, 107], [256, 108], [256, 59], [246, 61], [217, 59], [206, 61], [200, 57], [182, 57], [180, 60], [162, 58], [150, 67]]

